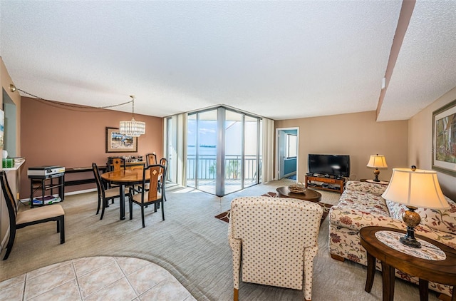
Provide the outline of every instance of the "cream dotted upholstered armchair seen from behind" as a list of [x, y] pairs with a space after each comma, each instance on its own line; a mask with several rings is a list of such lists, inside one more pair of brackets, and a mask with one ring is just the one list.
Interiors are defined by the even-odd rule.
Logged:
[[234, 300], [242, 281], [302, 290], [311, 300], [314, 257], [323, 210], [292, 198], [243, 197], [231, 203], [228, 240], [233, 253]]

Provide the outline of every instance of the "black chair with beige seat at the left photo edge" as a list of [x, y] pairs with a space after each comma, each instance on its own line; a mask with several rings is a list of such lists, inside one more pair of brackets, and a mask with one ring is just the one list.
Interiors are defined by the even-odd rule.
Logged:
[[0, 171], [0, 183], [9, 215], [9, 240], [3, 260], [8, 259], [9, 253], [11, 253], [14, 239], [16, 238], [16, 230], [29, 225], [56, 222], [57, 233], [60, 233], [60, 243], [65, 243], [65, 211], [60, 204], [45, 205], [43, 207], [19, 211], [16, 198], [14, 198], [11, 192], [5, 171]]

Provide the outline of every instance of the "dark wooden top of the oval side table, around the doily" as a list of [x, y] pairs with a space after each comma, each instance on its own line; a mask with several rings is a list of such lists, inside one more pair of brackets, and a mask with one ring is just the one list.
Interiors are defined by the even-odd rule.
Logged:
[[378, 231], [393, 231], [404, 233], [403, 230], [387, 227], [369, 226], [361, 228], [359, 236], [361, 245], [373, 257], [381, 260], [388, 265], [395, 267], [409, 275], [419, 277], [420, 279], [442, 283], [446, 285], [456, 285], [456, 250], [447, 245], [439, 243], [430, 238], [421, 235], [415, 235], [416, 238], [427, 241], [445, 252], [445, 260], [427, 260], [413, 255], [405, 254], [400, 250], [395, 250], [380, 242], [375, 237]]

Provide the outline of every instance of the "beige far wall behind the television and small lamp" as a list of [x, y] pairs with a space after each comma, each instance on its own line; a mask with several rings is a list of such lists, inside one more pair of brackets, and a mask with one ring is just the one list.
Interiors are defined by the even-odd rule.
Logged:
[[298, 180], [304, 182], [309, 153], [350, 155], [351, 179], [373, 178], [370, 155], [385, 155], [389, 180], [394, 167], [408, 165], [408, 121], [376, 122], [375, 111], [275, 121], [275, 128], [299, 128]]

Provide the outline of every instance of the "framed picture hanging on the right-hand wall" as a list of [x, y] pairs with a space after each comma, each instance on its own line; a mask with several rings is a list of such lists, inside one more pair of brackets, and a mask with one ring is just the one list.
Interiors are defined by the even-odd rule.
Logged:
[[456, 176], [456, 100], [432, 113], [432, 169]]

